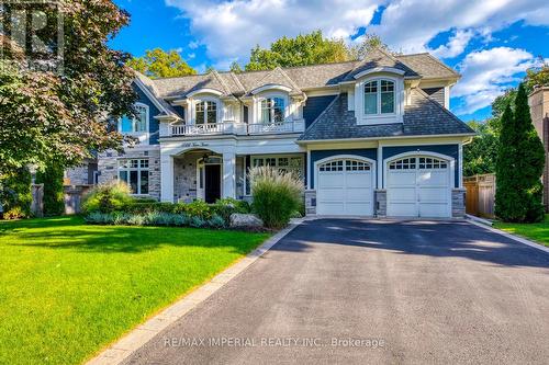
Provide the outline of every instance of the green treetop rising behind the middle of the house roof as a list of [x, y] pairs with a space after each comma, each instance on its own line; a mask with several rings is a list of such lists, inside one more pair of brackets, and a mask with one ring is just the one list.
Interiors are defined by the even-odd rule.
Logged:
[[256, 46], [246, 71], [270, 70], [280, 67], [330, 64], [349, 60], [348, 48], [343, 39], [324, 38], [321, 31], [300, 34], [295, 38], [283, 36], [269, 49]]

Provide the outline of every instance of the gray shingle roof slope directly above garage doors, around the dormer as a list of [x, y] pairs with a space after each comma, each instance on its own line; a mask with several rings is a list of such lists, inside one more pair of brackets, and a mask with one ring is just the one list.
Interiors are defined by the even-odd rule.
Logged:
[[412, 90], [411, 99], [411, 105], [405, 106], [404, 123], [357, 125], [355, 112], [347, 109], [347, 94], [339, 94], [299, 140], [474, 134], [419, 89]]

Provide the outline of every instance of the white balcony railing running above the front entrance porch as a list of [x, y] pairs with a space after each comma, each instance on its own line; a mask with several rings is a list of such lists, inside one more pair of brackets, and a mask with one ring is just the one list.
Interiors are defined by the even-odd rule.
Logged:
[[[164, 123], [163, 123], [164, 124]], [[166, 130], [168, 129], [168, 130]], [[277, 135], [289, 133], [303, 133], [305, 130], [305, 121], [284, 121], [277, 123], [209, 123], [209, 124], [181, 124], [181, 125], [161, 125], [161, 137], [182, 137], [182, 136], [210, 136], [210, 135]]]

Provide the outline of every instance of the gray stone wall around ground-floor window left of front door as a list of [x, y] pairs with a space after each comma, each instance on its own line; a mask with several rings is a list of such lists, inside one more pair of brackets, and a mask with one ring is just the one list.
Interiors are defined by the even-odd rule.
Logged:
[[148, 195], [160, 199], [160, 149], [152, 146], [149, 149], [131, 149], [124, 152], [108, 151], [98, 156], [98, 182], [100, 184], [119, 179], [119, 163], [121, 159], [148, 159]]

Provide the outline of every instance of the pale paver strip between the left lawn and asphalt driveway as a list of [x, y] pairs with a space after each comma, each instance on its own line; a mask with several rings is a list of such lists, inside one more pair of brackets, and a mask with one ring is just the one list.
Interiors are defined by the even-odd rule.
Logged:
[[146, 322], [138, 324], [135, 329], [123, 335], [122, 339], [111, 344], [107, 350], [86, 364], [115, 365], [122, 363], [133, 352], [141, 349], [170, 324], [184, 317], [189, 311], [194, 309], [212, 294], [217, 292], [225, 284], [245, 271], [249, 265], [256, 262], [257, 259], [262, 256], [282, 238], [305, 220], [307, 220], [307, 218], [292, 219], [291, 224], [287, 228], [269, 238], [257, 249], [215, 275], [210, 282], [190, 292], [183, 298], [164, 309], [160, 313], [149, 318]]

